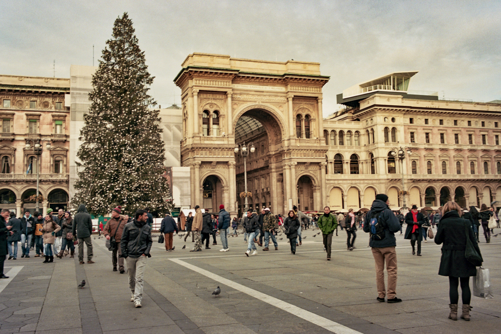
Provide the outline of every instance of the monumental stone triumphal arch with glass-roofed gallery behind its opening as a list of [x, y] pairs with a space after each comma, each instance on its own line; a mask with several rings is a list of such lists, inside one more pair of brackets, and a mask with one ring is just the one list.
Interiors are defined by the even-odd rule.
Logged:
[[[194, 53], [175, 78], [181, 89], [181, 165], [191, 167], [191, 206], [234, 215], [244, 197], [284, 213], [327, 204], [319, 63], [268, 62]], [[244, 163], [238, 144], [253, 144]]]

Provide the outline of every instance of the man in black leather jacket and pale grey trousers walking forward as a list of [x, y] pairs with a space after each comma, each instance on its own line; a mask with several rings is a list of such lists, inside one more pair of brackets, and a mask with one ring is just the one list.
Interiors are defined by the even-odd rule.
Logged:
[[145, 210], [137, 210], [135, 219], [125, 224], [120, 239], [122, 255], [127, 262], [129, 287], [132, 292], [130, 301], [134, 306], [141, 307], [143, 298], [144, 270], [146, 257], [151, 257], [150, 249], [153, 244], [151, 227], [146, 223], [148, 214]]

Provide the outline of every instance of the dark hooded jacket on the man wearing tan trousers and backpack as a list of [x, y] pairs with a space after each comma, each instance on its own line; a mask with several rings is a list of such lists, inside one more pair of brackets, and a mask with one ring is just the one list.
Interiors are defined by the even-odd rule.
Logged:
[[397, 241], [394, 233], [400, 231], [400, 222], [398, 221], [397, 216], [395, 216], [395, 214], [390, 210], [388, 204], [380, 199], [375, 199], [372, 202], [371, 209], [365, 215], [364, 232], [369, 233], [371, 231], [370, 221], [373, 213], [376, 214], [378, 222], [379, 220], [382, 222], [384, 227], [384, 238], [381, 240], [373, 240], [371, 238], [369, 240], [369, 246], [374, 248], [396, 246]]

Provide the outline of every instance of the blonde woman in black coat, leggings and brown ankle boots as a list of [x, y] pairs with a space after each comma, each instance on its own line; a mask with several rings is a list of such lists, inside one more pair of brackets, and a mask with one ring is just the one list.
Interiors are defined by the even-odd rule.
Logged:
[[462, 315], [469, 321], [471, 292], [469, 277], [476, 276], [476, 267], [464, 257], [466, 238], [471, 240], [473, 247], [480, 254], [471, 223], [463, 219], [461, 207], [455, 202], [447, 202], [442, 208], [442, 218], [435, 236], [435, 243], [442, 246], [442, 257], [438, 274], [449, 277], [449, 318], [457, 320], [457, 287], [461, 283]]

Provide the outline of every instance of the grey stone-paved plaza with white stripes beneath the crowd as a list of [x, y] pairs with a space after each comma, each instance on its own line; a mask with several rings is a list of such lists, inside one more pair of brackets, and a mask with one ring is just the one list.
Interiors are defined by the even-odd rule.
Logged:
[[[32, 257], [6, 261], [0, 280], [0, 334], [24, 333], [497, 333], [501, 328], [501, 236], [480, 249], [490, 269], [494, 298], [472, 297], [471, 321], [448, 315], [448, 280], [438, 276], [440, 246], [423, 242], [413, 256], [397, 235], [397, 304], [376, 301], [374, 260], [368, 236], [358, 232], [353, 251], [346, 233], [333, 237], [326, 261], [319, 230], [303, 231], [303, 245], [290, 252], [285, 235], [279, 250], [246, 257], [242, 235], [189, 252], [174, 236], [166, 252], [154, 238], [145, 273], [142, 308], [129, 301], [127, 275], [113, 272], [104, 237], [93, 236], [95, 264], [78, 259], [42, 263]], [[315, 235], [315, 237], [314, 237]], [[186, 249], [181, 249], [186, 245]], [[87, 285], [78, 289], [85, 279]], [[221, 294], [211, 292], [219, 285]]]

